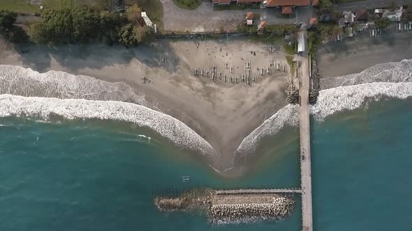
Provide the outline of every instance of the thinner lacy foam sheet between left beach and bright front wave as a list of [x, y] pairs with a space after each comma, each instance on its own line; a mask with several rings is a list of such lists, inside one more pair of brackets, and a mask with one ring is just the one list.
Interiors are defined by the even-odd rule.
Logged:
[[124, 82], [110, 83], [84, 75], [0, 65], [0, 94], [59, 99], [90, 99], [131, 102], [159, 111]]

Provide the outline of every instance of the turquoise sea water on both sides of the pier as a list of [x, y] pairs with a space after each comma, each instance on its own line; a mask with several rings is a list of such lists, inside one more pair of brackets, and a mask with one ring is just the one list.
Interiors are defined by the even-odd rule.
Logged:
[[[315, 230], [408, 230], [410, 118], [411, 100], [387, 100], [313, 123]], [[217, 227], [205, 214], [153, 205], [157, 194], [196, 186], [298, 186], [297, 136], [247, 177], [224, 180], [114, 122], [0, 125], [0, 230], [300, 230], [300, 202], [281, 222]]]

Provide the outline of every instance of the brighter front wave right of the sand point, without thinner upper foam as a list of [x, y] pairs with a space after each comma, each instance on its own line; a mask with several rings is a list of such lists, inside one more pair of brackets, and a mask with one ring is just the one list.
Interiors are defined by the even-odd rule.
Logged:
[[[319, 122], [339, 111], [360, 108], [367, 99], [381, 97], [406, 99], [412, 97], [412, 83], [365, 83], [321, 90], [318, 101], [310, 107], [310, 113]], [[236, 150], [236, 158], [252, 154], [262, 138], [277, 134], [285, 125], [299, 125], [299, 106], [287, 105], [265, 120], [249, 136], [243, 139]]]

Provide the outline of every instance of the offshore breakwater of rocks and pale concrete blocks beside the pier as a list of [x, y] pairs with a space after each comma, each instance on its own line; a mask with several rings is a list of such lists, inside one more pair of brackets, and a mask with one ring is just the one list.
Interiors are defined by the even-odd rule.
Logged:
[[252, 223], [289, 216], [295, 208], [290, 196], [280, 193], [216, 194], [189, 191], [175, 197], [159, 196], [154, 204], [161, 212], [204, 210], [211, 223]]

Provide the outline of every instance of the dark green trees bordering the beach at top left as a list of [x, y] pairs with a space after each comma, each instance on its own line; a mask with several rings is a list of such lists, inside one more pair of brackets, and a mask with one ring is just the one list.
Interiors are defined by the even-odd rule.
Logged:
[[[141, 12], [139, 6], [130, 6], [126, 13], [97, 11], [86, 6], [44, 10], [41, 19], [29, 25], [27, 39], [45, 45], [100, 41], [134, 47], [155, 38], [154, 30], [145, 25]], [[16, 17], [16, 13], [0, 11], [0, 33], [13, 42]]]

